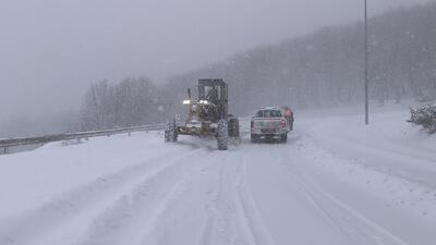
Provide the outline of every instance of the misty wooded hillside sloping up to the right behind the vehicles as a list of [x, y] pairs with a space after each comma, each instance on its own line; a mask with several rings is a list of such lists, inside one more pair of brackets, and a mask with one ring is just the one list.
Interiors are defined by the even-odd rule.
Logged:
[[[370, 20], [372, 99], [436, 97], [435, 10], [433, 2]], [[165, 98], [181, 100], [198, 77], [223, 77], [238, 113], [262, 105], [304, 108], [360, 101], [363, 35], [363, 23], [355, 23], [241, 52], [170, 78]]]

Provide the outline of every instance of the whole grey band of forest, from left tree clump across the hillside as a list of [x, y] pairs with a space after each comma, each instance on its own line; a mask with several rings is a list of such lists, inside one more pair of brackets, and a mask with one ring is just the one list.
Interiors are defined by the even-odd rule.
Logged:
[[[397, 9], [368, 22], [370, 99], [383, 103], [436, 98], [436, 3]], [[184, 114], [186, 88], [198, 78], [229, 85], [230, 110], [247, 115], [258, 107], [317, 108], [363, 100], [363, 23], [325, 27], [311, 35], [237, 53], [164, 86], [146, 77], [93, 85], [83, 101], [81, 130], [164, 122]]]

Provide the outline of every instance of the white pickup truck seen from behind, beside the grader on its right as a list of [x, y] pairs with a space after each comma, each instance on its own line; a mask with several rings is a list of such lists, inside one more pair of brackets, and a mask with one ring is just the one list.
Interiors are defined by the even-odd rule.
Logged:
[[258, 143], [262, 139], [275, 139], [286, 143], [288, 140], [288, 120], [279, 108], [262, 108], [252, 118], [252, 143]]

